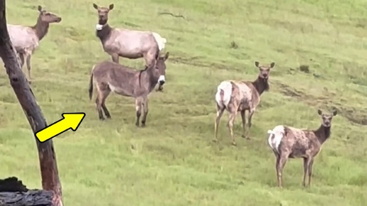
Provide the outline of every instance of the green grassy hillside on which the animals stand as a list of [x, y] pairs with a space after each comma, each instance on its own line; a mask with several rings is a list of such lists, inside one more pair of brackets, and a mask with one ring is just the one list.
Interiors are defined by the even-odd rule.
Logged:
[[[88, 99], [92, 65], [110, 60], [95, 36], [92, 3], [115, 4], [111, 26], [156, 31], [168, 40], [167, 82], [164, 92], [149, 96], [144, 129], [134, 125], [134, 99], [112, 94], [112, 119], [104, 122]], [[87, 114], [78, 131], [54, 139], [65, 205], [366, 205], [366, 1], [6, 4], [8, 23], [33, 25], [38, 4], [63, 18], [33, 55], [32, 88], [49, 124], [63, 112]], [[240, 138], [238, 116], [238, 146], [231, 146], [225, 114], [220, 141], [212, 143], [216, 86], [226, 79], [255, 80], [255, 60], [275, 62], [275, 69], [252, 121], [252, 140]], [[142, 59], [120, 63], [144, 65]], [[4, 69], [0, 107], [0, 177], [15, 175], [28, 188], [41, 188], [35, 140]], [[339, 115], [315, 160], [312, 187], [302, 188], [298, 159], [287, 163], [278, 189], [266, 131], [277, 124], [316, 129], [317, 108]]]

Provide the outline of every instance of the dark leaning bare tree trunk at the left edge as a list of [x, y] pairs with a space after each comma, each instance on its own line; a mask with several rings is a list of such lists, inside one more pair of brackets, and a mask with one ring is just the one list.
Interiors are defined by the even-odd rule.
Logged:
[[[5, 0], [0, 0], [0, 57], [9, 75], [10, 85], [18, 98], [26, 118], [31, 125], [33, 133], [44, 129], [47, 126], [43, 117], [41, 108], [36, 102], [36, 98], [31, 87], [26, 80], [21, 65], [18, 62], [16, 51], [9, 38], [6, 26], [6, 4]], [[36, 139], [36, 136], [33, 136]], [[52, 190], [53, 205], [63, 206], [61, 184], [58, 177], [58, 166], [56, 163], [53, 141], [48, 140], [44, 143], [36, 139], [38, 148], [38, 157], [41, 167], [42, 188], [43, 190]]]

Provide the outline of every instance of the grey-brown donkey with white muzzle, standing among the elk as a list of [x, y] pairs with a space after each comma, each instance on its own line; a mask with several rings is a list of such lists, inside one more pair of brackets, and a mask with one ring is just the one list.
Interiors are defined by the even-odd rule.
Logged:
[[103, 61], [93, 66], [90, 75], [89, 98], [92, 99], [93, 82], [97, 88], [97, 98], [95, 104], [97, 105], [98, 115], [100, 120], [105, 119], [102, 114], [110, 119], [111, 115], [105, 105], [105, 100], [110, 92], [115, 92], [125, 97], [135, 98], [135, 109], [137, 110], [137, 122], [139, 126], [139, 119], [144, 109], [142, 117], [142, 126], [145, 126], [148, 114], [148, 95], [154, 89], [157, 83], [164, 85], [166, 75], [166, 63], [169, 58], [167, 52], [164, 57], [158, 57], [155, 65], [146, 67], [144, 70], [137, 71], [124, 65], [119, 65], [110, 61]]

